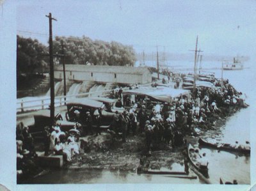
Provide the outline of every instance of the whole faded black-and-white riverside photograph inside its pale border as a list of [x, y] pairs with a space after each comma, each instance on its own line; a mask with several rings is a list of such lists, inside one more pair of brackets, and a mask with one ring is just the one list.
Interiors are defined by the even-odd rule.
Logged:
[[17, 185], [252, 188], [255, 1], [15, 7]]

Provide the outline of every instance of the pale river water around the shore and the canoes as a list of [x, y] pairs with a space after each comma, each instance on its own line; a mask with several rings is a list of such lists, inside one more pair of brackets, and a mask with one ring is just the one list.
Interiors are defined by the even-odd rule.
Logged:
[[[184, 67], [184, 65], [175, 65]], [[190, 64], [189, 64], [190, 65]], [[191, 66], [192, 63], [191, 63]], [[220, 63], [208, 63], [209, 67], [221, 67]], [[221, 77], [221, 70], [209, 70], [215, 72], [216, 77]], [[230, 83], [247, 96], [247, 103], [251, 103], [252, 95], [250, 82], [253, 76], [250, 68], [237, 71], [224, 71], [223, 78], [229, 79]], [[233, 116], [227, 118], [225, 125], [221, 127], [221, 134], [216, 136], [221, 142], [245, 143], [250, 141], [250, 107], [241, 109]], [[220, 178], [225, 181], [237, 180], [239, 184], [250, 184], [250, 156], [238, 156], [225, 151], [218, 152], [214, 149], [201, 148], [201, 153], [206, 153], [209, 161], [209, 181], [219, 184]], [[173, 169], [179, 170], [184, 167], [174, 164]], [[175, 183], [175, 184], [198, 184], [204, 183], [200, 179], [186, 180], [170, 178], [165, 175], [136, 174], [126, 171], [68, 169], [51, 171], [44, 176], [39, 176], [29, 183]]]

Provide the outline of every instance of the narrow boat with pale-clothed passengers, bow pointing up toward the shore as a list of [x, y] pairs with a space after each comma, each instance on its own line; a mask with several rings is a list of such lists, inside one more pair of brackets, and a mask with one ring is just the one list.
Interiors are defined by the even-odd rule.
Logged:
[[[196, 158], [195, 158], [196, 155]], [[191, 146], [191, 144], [189, 144], [188, 146], [188, 158], [189, 161], [191, 162], [191, 164], [193, 165], [193, 167], [195, 167], [195, 169], [200, 172], [202, 175], [205, 176], [205, 178], [209, 178], [209, 174], [208, 174], [208, 167], [207, 165], [201, 165], [199, 162], [199, 158], [202, 158], [199, 153], [196, 153], [196, 149], [193, 148], [193, 146]]]

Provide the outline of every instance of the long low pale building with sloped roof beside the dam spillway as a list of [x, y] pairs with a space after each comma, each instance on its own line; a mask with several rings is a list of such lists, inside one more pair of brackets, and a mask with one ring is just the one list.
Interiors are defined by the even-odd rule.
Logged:
[[[65, 65], [66, 79], [121, 84], [147, 84], [152, 75], [147, 67]], [[54, 78], [63, 79], [63, 66], [54, 66]]]

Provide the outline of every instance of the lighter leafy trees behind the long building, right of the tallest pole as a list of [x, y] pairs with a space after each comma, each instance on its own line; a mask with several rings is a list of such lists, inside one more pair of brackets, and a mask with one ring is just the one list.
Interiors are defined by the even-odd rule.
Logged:
[[133, 66], [136, 61], [134, 49], [118, 42], [104, 42], [70, 36], [56, 36], [54, 51], [61, 51], [61, 42], [65, 49], [65, 63], [86, 65]]

